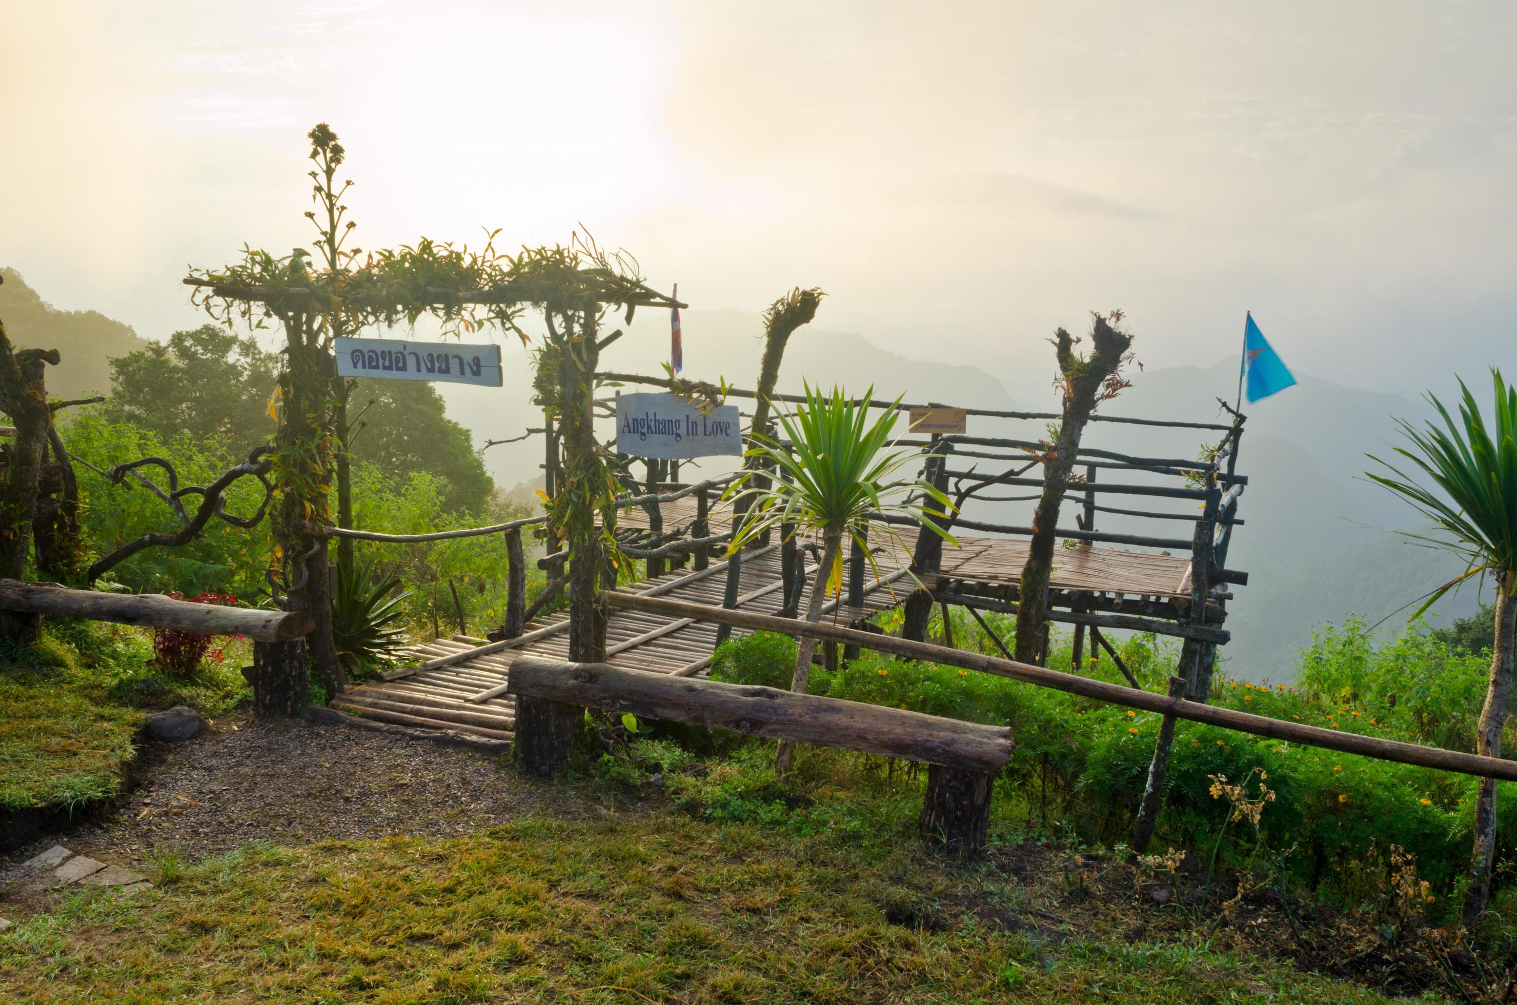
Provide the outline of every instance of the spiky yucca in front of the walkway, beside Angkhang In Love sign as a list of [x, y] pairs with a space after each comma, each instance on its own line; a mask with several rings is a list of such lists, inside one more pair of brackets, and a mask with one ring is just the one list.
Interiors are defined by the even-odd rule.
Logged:
[[[930, 516], [942, 516], [951, 509], [948, 496], [925, 481], [897, 477], [918, 454], [903, 449], [881, 455], [890, 446], [895, 407], [886, 408], [871, 422], [866, 402], [872, 395], [874, 387], [869, 387], [863, 401], [854, 401], [837, 387], [831, 395], [822, 395], [807, 384], [806, 404], [798, 405], [793, 413], [780, 413], [789, 446], [754, 440], [748, 451], [749, 458], [774, 465], [786, 477], [772, 483], [758, 481], [758, 472], [751, 471], [727, 490], [728, 498], [748, 502], [743, 521], [733, 534], [731, 551], [784, 524], [793, 525], [792, 533], [796, 534], [822, 536], [822, 560], [816, 566], [806, 609], [806, 619], [813, 624], [822, 616], [822, 598], [836, 597], [842, 589], [845, 536], [865, 545], [871, 527], [878, 527], [898, 539], [895, 528], [880, 519], [883, 515], [898, 515], [947, 537], [947, 531]], [[909, 501], [913, 489], [921, 495]], [[874, 556], [868, 548], [863, 551], [874, 566]], [[816, 639], [802, 638], [798, 648], [790, 691], [804, 692]], [[781, 741], [775, 771], [784, 774], [793, 762], [795, 745]]]

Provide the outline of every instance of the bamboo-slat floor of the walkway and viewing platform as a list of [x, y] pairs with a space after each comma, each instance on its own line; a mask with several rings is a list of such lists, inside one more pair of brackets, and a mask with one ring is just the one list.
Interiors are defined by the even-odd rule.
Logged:
[[[684, 502], [677, 501], [675, 506]], [[674, 530], [695, 516], [664, 509], [664, 528]], [[622, 515], [622, 527], [631, 524]], [[646, 525], [646, 521], [640, 521]], [[715, 521], [713, 521], [715, 522]], [[906, 577], [910, 540], [878, 542], [874, 568], [865, 569], [865, 603], [862, 607], [842, 606], [827, 616], [837, 624], [854, 625], [869, 615], [900, 604], [912, 591]], [[1027, 557], [1027, 542], [1010, 537], [959, 537], [957, 545], [944, 547], [942, 577], [962, 583], [1015, 586]], [[715, 559], [715, 556], [713, 556]], [[1189, 559], [1179, 556], [1118, 551], [1110, 548], [1060, 548], [1056, 557], [1053, 588], [1080, 592], [1112, 592], [1150, 597], [1185, 597], [1189, 581]], [[850, 560], [851, 565], [851, 560]], [[846, 581], [846, 580], [845, 580]], [[699, 604], [722, 604], [727, 566], [713, 560], [704, 572], [675, 569], [652, 580], [628, 586], [634, 592], [655, 592], [672, 600]], [[757, 613], [777, 613], [783, 603], [780, 583], [780, 550], [771, 547], [762, 554], [749, 554], [742, 566], [737, 606]], [[807, 603], [802, 595], [802, 610]], [[397, 726], [452, 730], [481, 739], [505, 741], [516, 724], [514, 701], [507, 694], [482, 697], [501, 691], [511, 663], [520, 654], [549, 659], [569, 657], [569, 615], [560, 612], [536, 619], [525, 627], [520, 644], [492, 653], [479, 639], [458, 636], [435, 639], [414, 648], [419, 660], [460, 657], [446, 666], [426, 668], [394, 676], [391, 680], [367, 683], [338, 697], [332, 707], [369, 720]], [[607, 627], [608, 662], [614, 666], [660, 674], [696, 676], [710, 666], [718, 627], [689, 619], [667, 621], [655, 615], [617, 610]], [[743, 635], [734, 630], [734, 635]]]

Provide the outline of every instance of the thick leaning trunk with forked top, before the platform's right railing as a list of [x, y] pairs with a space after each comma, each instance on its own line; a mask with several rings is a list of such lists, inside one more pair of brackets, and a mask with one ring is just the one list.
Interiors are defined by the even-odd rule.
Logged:
[[1063, 414], [1044, 458], [1042, 495], [1038, 498], [1038, 509], [1033, 510], [1033, 536], [1027, 545], [1027, 563], [1016, 588], [1016, 659], [1024, 663], [1041, 662], [1039, 651], [1047, 624], [1044, 594], [1053, 574], [1059, 504], [1069, 487], [1069, 472], [1080, 451], [1080, 437], [1095, 407], [1127, 387], [1121, 369], [1129, 360], [1127, 351], [1133, 345], [1133, 337], [1117, 328], [1123, 320], [1121, 311], [1112, 311], [1107, 317], [1092, 313], [1091, 319], [1094, 348], [1089, 358], [1074, 351], [1079, 340], [1063, 328], [1057, 329], [1053, 339], [1059, 357], [1057, 386], [1063, 390]]

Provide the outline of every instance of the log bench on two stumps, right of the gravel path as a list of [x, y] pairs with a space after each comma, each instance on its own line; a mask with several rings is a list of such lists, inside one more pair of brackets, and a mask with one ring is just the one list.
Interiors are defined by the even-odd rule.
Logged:
[[922, 762], [919, 833], [960, 855], [985, 847], [991, 789], [1013, 747], [1004, 726], [607, 663], [522, 656], [507, 691], [516, 695], [513, 751], [523, 774], [551, 776], [569, 761], [586, 707]]

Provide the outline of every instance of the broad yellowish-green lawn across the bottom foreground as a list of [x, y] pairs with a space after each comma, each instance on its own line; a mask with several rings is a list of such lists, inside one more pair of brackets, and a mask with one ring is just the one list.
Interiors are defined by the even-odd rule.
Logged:
[[[249, 846], [0, 935], [26, 1002], [1385, 1002], [1191, 935], [1060, 932], [991, 865], [692, 820]], [[1066, 926], [1065, 926], [1066, 928]]]

